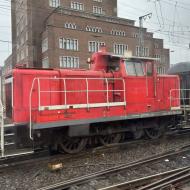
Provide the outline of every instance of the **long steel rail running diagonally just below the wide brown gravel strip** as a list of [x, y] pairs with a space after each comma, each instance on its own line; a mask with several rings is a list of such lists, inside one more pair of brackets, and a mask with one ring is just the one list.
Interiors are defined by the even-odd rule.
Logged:
[[177, 150], [173, 149], [173, 150], [170, 150], [170, 151], [168, 151], [166, 153], [159, 154], [159, 155], [156, 155], [156, 156], [152, 156], [150, 158], [146, 158], [146, 159], [143, 159], [143, 160], [135, 161], [135, 162], [128, 163], [128, 164], [121, 164], [119, 166], [115, 166], [115, 167], [112, 167], [112, 168], [109, 168], [109, 169], [106, 169], [106, 170], [103, 170], [103, 171], [100, 171], [100, 172], [95, 172], [95, 173], [92, 173], [92, 174], [89, 174], [89, 175], [84, 175], [84, 176], [81, 176], [81, 177], [78, 177], [78, 178], [74, 178], [74, 179], [67, 180], [67, 181], [64, 181], [64, 182], [49, 185], [47, 187], [42, 187], [42, 188], [39, 188], [38, 190], [54, 190], [54, 189], [55, 190], [56, 189], [64, 190], [64, 189], [68, 189], [73, 185], [81, 185], [81, 184], [84, 184], [85, 182], [89, 182], [92, 179], [97, 179], [99, 177], [106, 176], [108, 174], [116, 173], [116, 172], [119, 172], [119, 171], [122, 171], [122, 170], [125, 170], [125, 169], [131, 169], [133, 167], [136, 167], [136, 166], [139, 166], [139, 165], [142, 165], [142, 164], [148, 164], [148, 163], [160, 160], [162, 158], [178, 155], [180, 153], [185, 153], [185, 152], [188, 152], [188, 151], [190, 151], [190, 145], [185, 146], [185, 147], [181, 147], [181, 148], [179, 148]]

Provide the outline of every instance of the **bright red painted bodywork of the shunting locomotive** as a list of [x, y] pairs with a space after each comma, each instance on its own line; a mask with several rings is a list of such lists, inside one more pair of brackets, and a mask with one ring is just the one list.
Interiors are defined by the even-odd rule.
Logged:
[[[170, 102], [170, 90], [179, 89], [178, 76], [157, 76], [154, 72], [152, 76], [128, 76], [123, 61], [120, 62], [120, 69], [117, 72], [106, 72], [105, 62], [101, 53], [93, 55], [94, 64], [91, 70], [32, 70], [14, 69], [13, 87], [13, 121], [16, 123], [29, 122], [29, 94], [34, 78], [123, 78], [126, 88], [126, 109], [124, 106], [100, 107], [53, 111], [38, 111], [38, 85], [34, 83], [32, 92], [32, 121], [35, 123], [56, 122], [64, 120], [97, 119], [102, 117], [125, 116], [128, 114], [143, 114], [147, 112], [170, 111], [171, 103], [173, 107], [179, 106], [179, 100]], [[147, 63], [144, 63], [145, 65]], [[60, 80], [41, 80], [40, 89], [42, 91], [63, 91], [64, 82]], [[85, 80], [67, 80], [67, 90], [86, 90]], [[121, 81], [109, 84], [109, 89], [123, 90]], [[105, 90], [106, 84], [103, 80], [90, 80], [89, 90]], [[179, 94], [173, 93], [173, 97], [179, 98]], [[67, 104], [85, 104], [85, 92], [68, 92]], [[89, 92], [89, 103], [105, 103], [105, 92]], [[109, 102], [123, 101], [124, 93], [109, 93]], [[41, 105], [64, 105], [64, 92], [41, 93]]]

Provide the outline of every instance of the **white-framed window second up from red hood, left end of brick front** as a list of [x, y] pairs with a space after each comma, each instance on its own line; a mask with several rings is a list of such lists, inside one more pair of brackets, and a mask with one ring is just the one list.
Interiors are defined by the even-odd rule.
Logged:
[[66, 50], [78, 51], [78, 40], [70, 38], [60, 38], [59, 39], [59, 48]]

